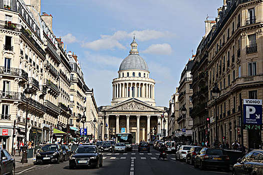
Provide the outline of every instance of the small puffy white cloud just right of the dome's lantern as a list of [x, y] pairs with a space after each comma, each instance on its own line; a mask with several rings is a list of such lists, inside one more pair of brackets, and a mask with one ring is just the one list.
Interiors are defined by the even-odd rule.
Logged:
[[164, 54], [168, 55], [172, 53], [172, 47], [168, 43], [163, 44], [151, 44], [145, 50], [141, 51], [142, 53], [150, 53], [150, 54]]

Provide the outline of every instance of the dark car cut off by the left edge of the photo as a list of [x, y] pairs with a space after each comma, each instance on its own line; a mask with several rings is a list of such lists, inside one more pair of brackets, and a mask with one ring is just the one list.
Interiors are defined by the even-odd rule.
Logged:
[[0, 149], [1, 159], [0, 159], [0, 174], [15, 174], [15, 158], [10, 155], [6, 149]]

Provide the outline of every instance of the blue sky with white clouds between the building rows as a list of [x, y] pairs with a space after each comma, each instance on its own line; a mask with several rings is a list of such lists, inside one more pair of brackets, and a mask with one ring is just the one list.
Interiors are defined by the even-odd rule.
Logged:
[[[191, 53], [204, 35], [204, 20], [223, 0], [42, 0], [53, 32], [78, 55], [97, 105], [109, 105], [112, 79], [136, 33], [139, 54], [155, 79], [156, 105], [168, 106]], [[210, 18], [214, 19], [214, 17]]]

